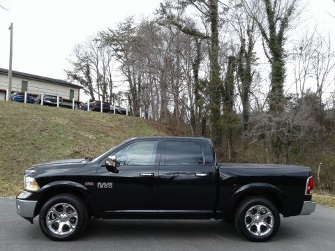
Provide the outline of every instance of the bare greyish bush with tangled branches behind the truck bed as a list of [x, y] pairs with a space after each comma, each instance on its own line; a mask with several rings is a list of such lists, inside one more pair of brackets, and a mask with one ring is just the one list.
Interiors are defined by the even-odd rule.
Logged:
[[[273, 139], [278, 138], [284, 149], [284, 161], [289, 162], [293, 144], [297, 142], [309, 142], [315, 144], [318, 137], [316, 132], [320, 131], [318, 123], [319, 110], [315, 109], [315, 93], [308, 93], [304, 98], [287, 102], [285, 112], [274, 116], [268, 112], [257, 112], [251, 116], [253, 126], [248, 131], [251, 143], [261, 141], [266, 149], [273, 146]], [[267, 153], [269, 153], [266, 150]], [[274, 149], [274, 153], [276, 150]], [[270, 162], [270, 157], [267, 157]], [[275, 155], [276, 162], [280, 162], [279, 156]]]

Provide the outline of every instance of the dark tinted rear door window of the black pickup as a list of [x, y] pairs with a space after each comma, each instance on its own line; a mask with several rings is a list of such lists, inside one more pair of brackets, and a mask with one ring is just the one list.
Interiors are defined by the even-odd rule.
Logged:
[[165, 142], [165, 165], [203, 165], [204, 158], [197, 142]]

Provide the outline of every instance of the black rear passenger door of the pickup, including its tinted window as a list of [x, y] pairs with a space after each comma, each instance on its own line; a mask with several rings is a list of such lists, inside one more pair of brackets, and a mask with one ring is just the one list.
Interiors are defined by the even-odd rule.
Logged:
[[158, 212], [212, 213], [214, 168], [204, 140], [165, 139], [158, 174]]

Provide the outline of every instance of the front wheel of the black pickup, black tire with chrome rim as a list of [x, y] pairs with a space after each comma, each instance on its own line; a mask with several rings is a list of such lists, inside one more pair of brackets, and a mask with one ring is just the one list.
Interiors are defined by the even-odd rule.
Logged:
[[[51, 212], [52, 207], [55, 208], [59, 216]], [[66, 212], [64, 212], [64, 208], [66, 208]], [[66, 217], [66, 215], [68, 217]], [[71, 218], [70, 215], [73, 215], [73, 217]], [[77, 217], [75, 215], [77, 215]], [[54, 222], [48, 227], [47, 218], [49, 220], [60, 219], [61, 222], [57, 220], [58, 222]], [[43, 234], [47, 236], [47, 238], [50, 238], [54, 241], [70, 241], [74, 238], [77, 238], [86, 228], [87, 220], [87, 207], [85, 206], [84, 202], [75, 195], [64, 194], [54, 196], [47, 200], [40, 209], [40, 229], [43, 231]], [[75, 227], [73, 227], [73, 225], [75, 225]], [[71, 229], [69, 226], [73, 227], [73, 229]], [[55, 231], [59, 231], [59, 229], [61, 229], [61, 232], [59, 234], [55, 233]]]

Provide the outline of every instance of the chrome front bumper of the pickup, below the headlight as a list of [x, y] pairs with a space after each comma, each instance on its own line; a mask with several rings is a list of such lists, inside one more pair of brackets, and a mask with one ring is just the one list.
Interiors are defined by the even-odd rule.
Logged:
[[22, 218], [33, 222], [37, 201], [26, 199], [31, 192], [23, 191], [16, 197], [16, 212]]

